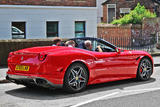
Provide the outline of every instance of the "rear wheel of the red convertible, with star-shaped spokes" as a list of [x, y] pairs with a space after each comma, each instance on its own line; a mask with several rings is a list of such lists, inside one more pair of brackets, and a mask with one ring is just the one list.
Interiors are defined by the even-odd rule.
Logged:
[[70, 93], [81, 92], [88, 83], [88, 72], [81, 63], [72, 64], [64, 76], [64, 89]]

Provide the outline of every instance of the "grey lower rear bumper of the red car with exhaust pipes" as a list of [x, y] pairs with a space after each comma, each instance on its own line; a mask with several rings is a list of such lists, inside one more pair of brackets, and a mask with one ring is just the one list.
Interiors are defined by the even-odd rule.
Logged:
[[50, 88], [62, 88], [63, 84], [54, 84], [41, 76], [7, 74], [6, 79], [16, 84], [37, 85]]

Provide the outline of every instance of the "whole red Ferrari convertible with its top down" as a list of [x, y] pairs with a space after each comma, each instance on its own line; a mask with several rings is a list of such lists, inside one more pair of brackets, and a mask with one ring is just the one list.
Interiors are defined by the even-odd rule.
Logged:
[[[11, 52], [6, 79], [27, 87], [80, 92], [90, 84], [129, 78], [149, 80], [153, 59], [144, 51], [121, 50], [98, 38], [74, 38], [76, 47], [43, 46]], [[84, 42], [90, 40], [92, 51]], [[100, 46], [103, 52], [97, 51]]]

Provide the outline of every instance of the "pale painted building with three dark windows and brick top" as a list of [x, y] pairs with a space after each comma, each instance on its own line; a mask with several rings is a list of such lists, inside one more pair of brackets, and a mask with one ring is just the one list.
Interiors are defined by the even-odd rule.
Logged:
[[0, 39], [97, 36], [96, 0], [0, 0]]

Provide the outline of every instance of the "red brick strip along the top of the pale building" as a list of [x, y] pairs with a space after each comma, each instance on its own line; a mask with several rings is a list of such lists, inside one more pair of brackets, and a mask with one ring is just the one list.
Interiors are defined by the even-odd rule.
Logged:
[[96, 0], [0, 0], [0, 5], [96, 7]]

